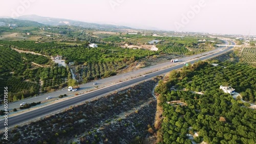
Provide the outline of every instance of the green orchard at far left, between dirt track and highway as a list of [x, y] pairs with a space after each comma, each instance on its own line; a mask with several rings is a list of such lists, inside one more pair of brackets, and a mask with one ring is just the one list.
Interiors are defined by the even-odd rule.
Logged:
[[[49, 58], [18, 53], [9, 47], [0, 46], [0, 89], [9, 88], [9, 102], [18, 101], [62, 86], [67, 78], [66, 67], [38, 67], [32, 64], [47, 64]], [[40, 80], [42, 86], [40, 86]], [[3, 99], [4, 95], [0, 95]]]

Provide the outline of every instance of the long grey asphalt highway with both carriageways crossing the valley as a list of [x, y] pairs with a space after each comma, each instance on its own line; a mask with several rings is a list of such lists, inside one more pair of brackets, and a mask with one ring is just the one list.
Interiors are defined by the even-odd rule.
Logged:
[[[123, 75], [118, 75], [118, 76], [114, 76], [114, 77], [111, 77], [111, 78], [106, 78], [106, 79], [99, 80], [97, 82], [100, 85], [100, 84], [105, 84], [105, 83], [109, 83], [109, 84], [112, 83], [113, 84], [116, 81], [119, 82], [120, 80], [125, 80], [125, 79], [129, 78], [129, 80], [127, 80], [127, 81], [119, 82], [117, 84], [110, 85], [108, 87], [103, 87], [103, 88], [100, 88], [98, 90], [94, 90], [94, 91], [91, 91], [91, 92], [87, 92], [85, 94], [78, 95], [76, 97], [72, 97], [71, 99], [68, 99], [68, 100], [65, 100], [65, 101], [61, 101], [61, 102], [58, 102], [58, 103], [55, 103], [55, 104], [47, 105], [47, 106], [42, 107], [42, 108], [38, 108], [38, 109], [35, 109], [35, 110], [30, 110], [28, 112], [9, 117], [8, 118], [8, 127], [10, 128], [10, 127], [16, 126], [20, 123], [27, 122], [29, 119], [34, 119], [34, 118], [37, 118], [37, 117], [40, 117], [40, 116], [44, 116], [44, 115], [47, 115], [51, 112], [61, 110], [61, 109], [64, 109], [64, 108], [68, 108], [70, 106], [74, 106], [74, 105], [79, 104], [81, 102], [85, 102], [85, 101], [94, 99], [96, 97], [108, 94], [108, 93], [116, 91], [118, 89], [125, 88], [125, 87], [130, 87], [130, 86], [132, 86], [136, 83], [145, 81], [147, 79], [151, 79], [151, 78], [159, 76], [159, 75], [164, 75], [164, 74], [168, 73], [169, 71], [171, 71], [173, 69], [178, 69], [178, 68], [183, 67], [184, 63], [187, 60], [194, 59], [194, 60], [190, 61], [190, 63], [192, 64], [192, 63], [195, 63], [198, 60], [205, 60], [205, 59], [214, 57], [216, 55], [223, 54], [223, 53], [225, 53], [225, 52], [227, 52], [231, 49], [232, 49], [232, 47], [228, 47], [227, 49], [224, 49], [223, 47], [220, 47], [216, 50], [213, 50], [212, 52], [207, 52], [207, 53], [204, 53], [204, 54], [199, 54], [199, 55], [183, 58], [183, 59], [181, 59], [182, 61], [179, 62], [179, 63], [172, 63], [172, 64], [170, 64], [170, 62], [163, 63], [163, 64], [151, 66], [151, 67], [148, 67], [148, 68], [142, 68], [140, 70], [132, 71], [130, 73], [126, 73], [126, 74], [123, 74]], [[214, 52], [216, 52], [216, 53], [214, 53]], [[212, 53], [214, 53], [214, 54], [212, 54]], [[206, 56], [204, 56], [204, 55], [206, 55]], [[200, 56], [203, 56], [203, 57], [200, 57]], [[170, 65], [173, 65], [173, 64], [177, 64], [177, 65], [172, 66], [172, 67], [168, 67], [168, 68], [165, 68], [165, 69], [162, 69], [162, 70], [159, 70], [159, 71], [156, 71], [154, 73], [147, 74], [146, 77], [140, 76], [140, 77], [130, 79], [130, 77], [145, 74], [148, 71], [152, 71], [152, 70], [154, 71], [158, 68], [160, 69], [162, 67], [167, 67], [167, 66], [170, 66]], [[81, 90], [88, 89], [88, 88], [93, 88], [93, 87], [94, 87], [94, 85], [92, 83], [88, 83], [88, 84], [81, 85]], [[38, 100], [38, 101], [46, 100], [46, 97], [48, 97], [50, 95], [54, 99], [54, 98], [58, 97], [59, 94], [63, 94], [63, 93], [74, 94], [75, 92], [73, 92], [73, 91], [70, 92], [67, 89], [63, 89], [63, 90], [59, 90], [57, 92], [45, 94], [43, 96], [41, 95], [41, 96], [36, 97], [36, 98], [27, 99], [26, 102], [30, 103], [29, 101], [36, 102], [35, 100]], [[22, 102], [25, 102], [25, 101], [19, 101], [18, 103], [10, 103], [9, 108], [12, 105], [13, 105], [13, 107], [16, 107], [16, 106], [19, 107], [19, 104], [22, 103]], [[3, 107], [3, 105], [2, 105], [2, 107]], [[2, 119], [0, 121], [0, 130], [3, 130], [4, 127], [5, 127], [3, 120], [4, 119]]]

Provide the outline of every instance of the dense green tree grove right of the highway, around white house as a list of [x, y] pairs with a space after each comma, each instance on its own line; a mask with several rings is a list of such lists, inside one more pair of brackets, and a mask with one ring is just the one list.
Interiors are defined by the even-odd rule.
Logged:
[[[228, 62], [220, 66], [198, 62], [171, 71], [169, 81], [156, 87], [164, 110], [163, 142], [255, 143], [255, 110], [219, 89], [232, 84], [237, 92], [247, 94], [242, 95], [244, 100], [255, 101], [255, 75], [253, 67]], [[176, 90], [170, 90], [172, 86]]]

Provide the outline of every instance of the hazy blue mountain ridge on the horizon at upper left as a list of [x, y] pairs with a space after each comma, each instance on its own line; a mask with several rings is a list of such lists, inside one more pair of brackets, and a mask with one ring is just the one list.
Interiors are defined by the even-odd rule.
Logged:
[[62, 18], [42, 17], [38, 15], [24, 15], [24, 16], [19, 16], [16, 19], [36, 21], [44, 25], [50, 25], [50, 26], [68, 25], [68, 26], [78, 26], [78, 27], [93, 28], [93, 29], [131, 29], [129, 27], [124, 27], [124, 26], [97, 24], [97, 23], [90, 23], [90, 22], [83, 22], [83, 21], [76, 21], [76, 20], [69, 20], [69, 19], [62, 19]]

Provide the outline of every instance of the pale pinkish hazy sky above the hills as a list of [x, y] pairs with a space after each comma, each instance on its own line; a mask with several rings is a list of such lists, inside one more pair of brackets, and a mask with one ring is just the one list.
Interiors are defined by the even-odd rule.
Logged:
[[141, 29], [256, 35], [255, 0], [2, 0], [0, 16], [36, 14]]

